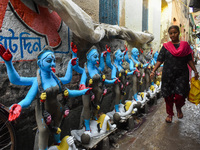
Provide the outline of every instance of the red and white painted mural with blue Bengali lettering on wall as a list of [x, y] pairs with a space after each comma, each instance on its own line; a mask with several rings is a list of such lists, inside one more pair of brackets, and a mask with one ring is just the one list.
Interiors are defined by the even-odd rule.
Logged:
[[17, 1], [19, 3], [10, 1], [1, 7], [5, 14], [1, 14], [0, 20], [0, 43], [10, 49], [13, 61], [34, 60], [45, 45], [54, 48], [57, 57], [68, 57], [71, 31], [57, 13], [42, 7], [37, 13]]

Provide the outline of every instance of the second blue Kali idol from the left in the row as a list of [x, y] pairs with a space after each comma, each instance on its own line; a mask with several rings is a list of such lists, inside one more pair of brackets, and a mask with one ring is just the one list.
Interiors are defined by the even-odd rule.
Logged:
[[[103, 74], [105, 67], [104, 56], [105, 52], [102, 52], [99, 63], [99, 53], [95, 46], [92, 46], [86, 54], [87, 62], [84, 64], [79, 89], [85, 89], [86, 86], [89, 86], [92, 87], [92, 90], [90, 95], [82, 96], [83, 111], [81, 124], [84, 124], [85, 126], [85, 132], [82, 135], [82, 139], [88, 136], [91, 137], [90, 118], [92, 117], [94, 120], [98, 119], [98, 110], [100, 109], [103, 96], [106, 93], [105, 84], [117, 84], [118, 82], [117, 79], [105, 79], [105, 75]], [[92, 106], [92, 108], [90, 106]], [[93, 110], [93, 114], [90, 113], [91, 110]]]

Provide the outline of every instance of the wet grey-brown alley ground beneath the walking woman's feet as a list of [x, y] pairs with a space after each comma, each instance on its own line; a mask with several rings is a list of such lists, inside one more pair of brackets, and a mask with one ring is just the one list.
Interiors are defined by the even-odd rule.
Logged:
[[[198, 71], [200, 70], [198, 65]], [[111, 150], [200, 150], [200, 106], [186, 101], [184, 117], [178, 119], [176, 109], [172, 123], [166, 123], [164, 99], [160, 98], [142, 124], [124, 134]], [[117, 147], [119, 146], [119, 147]]]

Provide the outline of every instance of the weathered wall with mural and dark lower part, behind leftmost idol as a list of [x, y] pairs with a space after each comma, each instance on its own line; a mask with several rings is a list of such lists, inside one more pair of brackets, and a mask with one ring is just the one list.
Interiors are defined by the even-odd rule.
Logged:
[[[29, 9], [20, 0], [0, 1], [0, 44], [10, 49], [13, 64], [21, 76], [36, 76], [36, 56], [50, 45], [57, 57], [57, 73], [63, 76], [70, 59], [70, 31], [55, 12], [38, 7], [39, 13]], [[16, 86], [9, 82], [6, 67], [0, 58], [0, 103], [10, 106], [18, 103], [30, 87]], [[75, 76], [74, 76], [75, 78]], [[35, 101], [24, 109], [16, 122], [18, 149], [33, 148], [36, 130], [34, 116]]]

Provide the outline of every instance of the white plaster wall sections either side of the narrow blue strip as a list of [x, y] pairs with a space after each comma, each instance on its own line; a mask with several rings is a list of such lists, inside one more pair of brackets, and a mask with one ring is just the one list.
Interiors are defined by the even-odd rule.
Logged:
[[[133, 31], [142, 31], [142, 10], [143, 1], [140, 0], [125, 0], [125, 26]], [[123, 8], [123, 7], [122, 7]], [[121, 9], [123, 10], [123, 9]], [[122, 16], [122, 14], [121, 14]], [[121, 17], [122, 18], [122, 17]], [[160, 48], [160, 26], [161, 26], [161, 1], [149, 0], [148, 1], [148, 32], [154, 35], [154, 40], [151, 42], [150, 47], [153, 50]], [[120, 22], [122, 22], [120, 20]], [[150, 48], [149, 46], [144, 46]]]

